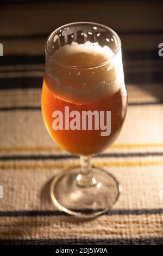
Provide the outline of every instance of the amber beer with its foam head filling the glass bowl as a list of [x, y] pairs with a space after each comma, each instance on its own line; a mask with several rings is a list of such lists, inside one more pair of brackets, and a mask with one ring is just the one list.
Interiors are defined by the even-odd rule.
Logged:
[[[118, 73], [122, 68], [121, 59], [116, 56], [112, 61], [113, 55], [109, 48], [102, 48], [98, 43], [73, 43], [60, 47], [49, 59], [42, 86], [42, 115], [52, 139], [72, 154], [99, 153], [110, 146], [121, 131], [127, 93], [123, 77], [118, 75], [121, 74]], [[65, 106], [70, 111], [79, 111], [81, 118], [82, 111], [111, 111], [110, 135], [102, 136], [101, 129], [95, 127], [92, 130], [54, 130], [52, 114], [55, 110], [64, 114]]]

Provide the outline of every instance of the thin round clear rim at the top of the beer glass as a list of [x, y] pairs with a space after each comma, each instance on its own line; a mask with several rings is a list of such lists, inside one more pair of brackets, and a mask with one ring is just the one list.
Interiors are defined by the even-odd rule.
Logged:
[[[62, 28], [65, 28], [67, 26], [73, 26], [73, 25], [78, 25], [78, 24], [88, 24], [88, 25], [92, 25], [92, 26], [98, 26], [98, 27], [103, 27], [105, 29], [107, 29], [108, 31], [110, 31], [112, 34], [114, 34], [116, 36], [116, 38], [118, 39], [118, 49], [117, 49], [117, 52], [114, 53], [114, 56], [112, 56], [111, 58], [109, 58], [107, 61], [105, 62], [102, 62], [98, 65], [94, 65], [94, 66], [89, 66], [89, 67], [77, 67], [77, 66], [71, 66], [71, 65], [67, 65], [67, 64], [64, 64], [64, 63], [61, 63], [59, 61], [57, 61], [57, 59], [55, 59], [54, 57], [52, 57], [52, 55], [49, 53], [48, 51], [48, 41], [49, 39], [52, 37], [52, 35], [57, 32], [58, 30], [62, 29]], [[111, 28], [101, 24], [101, 23], [96, 23], [96, 22], [89, 22], [89, 21], [78, 21], [78, 22], [72, 22], [72, 23], [67, 23], [65, 25], [62, 25], [60, 27], [58, 27], [57, 29], [55, 29], [51, 34], [49, 34], [47, 40], [46, 40], [46, 43], [45, 43], [45, 52], [47, 53], [47, 55], [58, 65], [62, 66], [62, 67], [65, 67], [65, 68], [70, 68], [70, 69], [93, 69], [93, 68], [98, 68], [98, 67], [102, 67], [102, 66], [105, 66], [106, 64], [108, 64], [110, 61], [112, 61], [112, 59], [114, 59], [118, 52], [120, 52], [121, 50], [121, 39], [120, 37], [118, 36], [118, 34]]]

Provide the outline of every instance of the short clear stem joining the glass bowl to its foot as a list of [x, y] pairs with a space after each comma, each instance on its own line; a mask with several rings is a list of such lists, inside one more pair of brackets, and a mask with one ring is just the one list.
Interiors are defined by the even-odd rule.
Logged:
[[80, 157], [80, 174], [77, 176], [77, 184], [79, 187], [92, 187], [95, 186], [96, 178], [93, 177], [91, 171], [91, 157]]

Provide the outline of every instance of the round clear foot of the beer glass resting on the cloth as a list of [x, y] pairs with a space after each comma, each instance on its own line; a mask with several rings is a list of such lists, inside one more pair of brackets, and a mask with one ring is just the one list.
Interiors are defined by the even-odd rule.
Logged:
[[93, 218], [107, 212], [116, 203], [121, 185], [101, 168], [92, 166], [91, 184], [81, 186], [80, 166], [61, 172], [51, 184], [51, 198], [55, 206], [72, 216]]

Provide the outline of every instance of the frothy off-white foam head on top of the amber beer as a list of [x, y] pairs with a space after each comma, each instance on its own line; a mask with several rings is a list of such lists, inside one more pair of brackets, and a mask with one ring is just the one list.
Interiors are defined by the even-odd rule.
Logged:
[[103, 55], [108, 62], [95, 68], [82, 69], [79, 67], [73, 69], [50, 60], [46, 66], [45, 80], [55, 97], [81, 105], [99, 102], [111, 97], [121, 87], [126, 90], [121, 53], [119, 57], [116, 56], [112, 60], [114, 52], [108, 46], [102, 47], [98, 43], [87, 41], [85, 44], [72, 42], [71, 45], [62, 46], [55, 51], [53, 57], [57, 59], [60, 54], [71, 55], [76, 52], [86, 52], [97, 56]]

